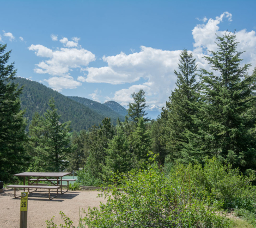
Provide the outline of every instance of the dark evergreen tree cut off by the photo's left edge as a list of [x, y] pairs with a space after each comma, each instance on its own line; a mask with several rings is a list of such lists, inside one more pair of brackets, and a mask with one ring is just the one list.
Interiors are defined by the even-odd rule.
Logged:
[[0, 44], [0, 180], [8, 181], [17, 172], [26, 171], [29, 156], [25, 151], [25, 110], [20, 110], [22, 88], [11, 83], [15, 79], [14, 63], [8, 64], [10, 51]]

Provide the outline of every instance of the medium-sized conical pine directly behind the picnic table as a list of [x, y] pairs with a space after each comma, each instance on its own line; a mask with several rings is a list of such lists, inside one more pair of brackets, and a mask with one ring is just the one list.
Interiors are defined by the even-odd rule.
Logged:
[[34, 116], [33, 124], [29, 126], [29, 134], [40, 168], [59, 172], [68, 166], [67, 159], [74, 147], [70, 145], [70, 122], [59, 122], [60, 115], [57, 113], [53, 98], [49, 106], [51, 109], [48, 109], [44, 116]]

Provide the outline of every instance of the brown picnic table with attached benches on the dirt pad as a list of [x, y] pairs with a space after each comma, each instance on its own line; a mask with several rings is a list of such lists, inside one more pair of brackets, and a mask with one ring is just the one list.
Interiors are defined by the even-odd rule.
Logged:
[[[38, 188], [42, 189], [48, 189], [49, 190], [49, 199], [53, 199], [57, 197], [58, 195], [58, 189], [60, 188], [60, 193], [64, 194], [68, 192], [69, 190], [69, 181], [75, 181], [75, 179], [64, 179], [64, 181], [68, 181], [68, 190], [65, 192], [62, 192], [62, 177], [71, 174], [71, 172], [21, 172], [20, 174], [15, 174], [14, 176], [20, 176], [23, 177], [23, 185], [9, 185], [7, 186], [8, 188], [14, 188], [14, 197], [19, 198], [20, 196], [16, 197], [16, 188], [23, 188], [25, 191], [25, 188], [28, 188], [28, 192], [30, 188], [35, 188], [32, 192], [35, 192]], [[28, 185], [26, 185], [26, 177], [28, 177]], [[36, 177], [32, 178], [31, 177]], [[54, 177], [54, 179], [50, 178]], [[39, 186], [38, 182], [39, 181], [48, 181], [53, 184], [53, 186]], [[33, 183], [36, 182], [36, 185], [32, 185]], [[55, 183], [57, 182], [57, 183]], [[56, 189], [57, 190], [57, 195], [51, 197], [50, 196], [50, 189]], [[29, 192], [29, 193], [32, 193]]]

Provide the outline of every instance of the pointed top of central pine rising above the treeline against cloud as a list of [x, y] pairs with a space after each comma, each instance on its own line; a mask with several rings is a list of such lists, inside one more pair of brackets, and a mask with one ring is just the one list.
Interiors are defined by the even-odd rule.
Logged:
[[128, 115], [132, 119], [132, 121], [138, 122], [139, 118], [143, 118], [145, 122], [149, 121], [150, 118], [147, 118], [148, 113], [146, 113], [145, 108], [146, 100], [145, 100], [145, 91], [140, 89], [138, 93], [132, 93], [133, 103], [129, 103]]

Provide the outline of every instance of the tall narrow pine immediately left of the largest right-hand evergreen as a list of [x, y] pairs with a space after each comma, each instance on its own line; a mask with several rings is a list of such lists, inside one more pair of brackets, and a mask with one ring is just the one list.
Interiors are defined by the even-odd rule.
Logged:
[[[194, 131], [192, 116], [196, 113], [194, 105], [198, 100], [199, 85], [196, 82], [196, 59], [192, 53], [184, 50], [180, 54], [179, 72], [174, 71], [177, 76], [176, 88], [172, 91], [169, 101], [166, 102], [166, 109], [162, 117], [166, 121], [164, 134], [166, 149], [168, 151], [168, 162], [181, 157], [181, 150], [184, 143], [187, 143], [185, 132]], [[163, 118], [164, 119], [164, 118]]]

